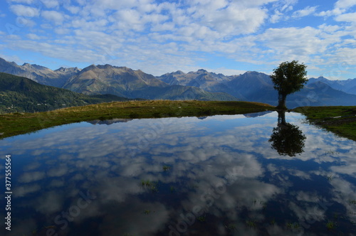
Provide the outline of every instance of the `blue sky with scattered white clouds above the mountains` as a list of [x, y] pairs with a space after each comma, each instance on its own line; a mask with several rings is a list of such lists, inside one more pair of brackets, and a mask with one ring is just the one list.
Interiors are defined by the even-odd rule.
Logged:
[[58, 68], [110, 64], [356, 77], [356, 0], [1, 0], [0, 57]]

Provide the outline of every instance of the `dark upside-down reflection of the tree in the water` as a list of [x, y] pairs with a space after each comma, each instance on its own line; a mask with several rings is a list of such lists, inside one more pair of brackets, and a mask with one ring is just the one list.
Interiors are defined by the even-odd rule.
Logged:
[[278, 112], [278, 126], [273, 128], [271, 138], [272, 149], [276, 149], [278, 154], [283, 156], [295, 156], [303, 153], [305, 135], [295, 124], [286, 122], [286, 112]]

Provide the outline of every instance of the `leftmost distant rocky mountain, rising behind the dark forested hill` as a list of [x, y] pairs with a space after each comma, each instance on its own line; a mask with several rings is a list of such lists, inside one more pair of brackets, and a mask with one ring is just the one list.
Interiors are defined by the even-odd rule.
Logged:
[[0, 58], [0, 72], [26, 77], [42, 85], [63, 87], [68, 78], [80, 72], [80, 69], [59, 68], [58, 70], [51, 70], [41, 65], [30, 65], [28, 63], [17, 65]]

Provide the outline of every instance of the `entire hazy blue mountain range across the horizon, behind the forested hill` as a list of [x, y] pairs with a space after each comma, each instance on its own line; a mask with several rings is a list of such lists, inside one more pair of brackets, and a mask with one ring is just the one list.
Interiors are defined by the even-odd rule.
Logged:
[[[85, 95], [167, 100], [244, 100], [277, 104], [278, 93], [271, 77], [248, 71], [226, 76], [206, 70], [180, 70], [153, 76], [141, 70], [112, 65], [90, 65], [51, 70], [41, 65], [17, 65], [0, 58], [0, 72], [28, 77], [42, 85], [61, 87]], [[303, 90], [287, 97], [287, 107], [355, 105], [356, 79], [310, 78]]]

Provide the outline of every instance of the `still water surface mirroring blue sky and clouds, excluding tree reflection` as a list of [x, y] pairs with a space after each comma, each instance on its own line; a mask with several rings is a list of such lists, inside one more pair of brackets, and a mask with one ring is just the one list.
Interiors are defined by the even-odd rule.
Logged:
[[83, 122], [1, 140], [13, 173], [6, 235], [350, 235], [355, 141], [286, 119], [307, 137], [303, 154], [271, 149], [276, 112]]

